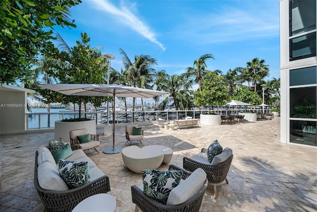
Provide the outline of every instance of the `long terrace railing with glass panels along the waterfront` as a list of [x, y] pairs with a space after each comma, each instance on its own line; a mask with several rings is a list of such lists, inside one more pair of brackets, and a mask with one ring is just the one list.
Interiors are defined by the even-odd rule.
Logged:
[[[249, 110], [250, 112], [262, 112], [262, 109]], [[243, 110], [211, 110], [211, 113], [221, 115], [237, 115]], [[264, 110], [269, 113], [269, 110]], [[185, 119], [187, 116], [199, 119], [200, 114], [207, 114], [209, 110], [178, 110], [178, 111], [115, 111], [114, 121], [120, 123], [149, 123], [158, 122], [159, 118], [164, 120], [179, 120]], [[95, 119], [97, 126], [107, 124], [106, 112], [82, 112], [82, 117]], [[52, 129], [55, 126], [55, 121], [78, 117], [78, 112], [53, 112], [53, 113], [25, 113], [27, 130]], [[112, 112], [109, 112], [110, 124], [113, 123]]]

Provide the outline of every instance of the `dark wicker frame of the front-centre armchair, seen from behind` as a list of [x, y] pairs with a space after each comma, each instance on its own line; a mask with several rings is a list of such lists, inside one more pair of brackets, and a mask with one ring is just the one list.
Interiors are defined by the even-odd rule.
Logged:
[[[170, 165], [168, 170], [182, 170], [182, 179], [186, 179], [191, 174], [191, 172], [175, 165]], [[144, 194], [138, 186], [132, 185], [132, 202], [136, 205], [135, 212], [138, 212], [139, 210], [143, 212], [199, 212], [207, 185], [208, 180], [206, 179], [204, 187], [193, 198], [185, 203], [175, 206], [161, 204]]]

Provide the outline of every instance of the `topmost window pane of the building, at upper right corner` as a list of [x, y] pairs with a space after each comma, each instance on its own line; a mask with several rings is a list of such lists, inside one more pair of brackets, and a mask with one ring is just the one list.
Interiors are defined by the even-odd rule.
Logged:
[[290, 0], [289, 36], [316, 29], [316, 0]]

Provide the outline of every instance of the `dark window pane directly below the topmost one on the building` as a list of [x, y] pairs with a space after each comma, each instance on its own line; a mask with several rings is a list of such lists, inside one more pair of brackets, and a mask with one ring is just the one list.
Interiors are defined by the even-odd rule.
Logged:
[[299, 60], [316, 56], [316, 32], [289, 40], [289, 60]]

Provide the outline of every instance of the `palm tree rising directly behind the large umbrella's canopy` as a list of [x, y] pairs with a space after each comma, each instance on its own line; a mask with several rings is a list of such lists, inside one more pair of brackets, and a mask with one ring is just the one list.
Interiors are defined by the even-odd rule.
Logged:
[[[127, 54], [120, 49], [120, 54], [123, 55], [122, 62], [126, 71], [127, 78], [133, 87], [145, 87], [149, 80], [152, 80], [156, 72], [152, 66], [157, 65], [157, 60], [149, 55], [134, 56], [132, 63]], [[135, 98], [133, 98], [132, 111], [134, 111]]]

